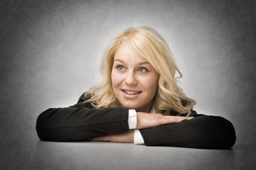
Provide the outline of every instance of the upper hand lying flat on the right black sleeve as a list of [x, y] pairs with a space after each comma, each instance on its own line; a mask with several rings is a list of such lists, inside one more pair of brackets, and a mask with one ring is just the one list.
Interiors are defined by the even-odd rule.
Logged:
[[184, 119], [192, 119], [193, 117], [181, 117], [181, 116], [164, 116], [160, 113], [151, 114], [137, 112], [137, 126], [136, 129], [145, 129], [155, 126], [160, 126], [169, 123], [179, 123]]

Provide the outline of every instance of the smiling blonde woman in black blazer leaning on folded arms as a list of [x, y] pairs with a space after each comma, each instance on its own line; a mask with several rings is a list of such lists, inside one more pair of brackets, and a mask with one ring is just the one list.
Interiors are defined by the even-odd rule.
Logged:
[[[110, 141], [189, 148], [230, 148], [235, 129], [218, 116], [199, 115], [177, 85], [171, 51], [154, 29], [128, 28], [103, 56], [103, 83], [77, 104], [50, 108], [37, 119], [40, 139]], [[157, 114], [152, 114], [157, 113]]]

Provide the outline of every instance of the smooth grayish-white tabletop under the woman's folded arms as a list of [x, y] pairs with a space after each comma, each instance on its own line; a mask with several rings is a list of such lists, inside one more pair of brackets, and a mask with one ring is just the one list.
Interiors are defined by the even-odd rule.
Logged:
[[10, 159], [5, 160], [7, 169], [256, 170], [255, 146], [242, 144], [228, 150], [211, 150], [35, 139], [24, 143], [20, 152], [13, 150], [16, 154], [9, 154]]

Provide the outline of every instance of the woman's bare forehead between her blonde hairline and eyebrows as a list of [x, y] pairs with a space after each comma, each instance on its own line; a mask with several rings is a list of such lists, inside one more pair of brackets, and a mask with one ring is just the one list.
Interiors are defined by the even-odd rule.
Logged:
[[144, 55], [140, 51], [134, 49], [128, 41], [121, 43], [115, 52], [114, 60], [115, 59], [121, 59], [124, 61], [136, 59], [136, 61], [147, 62], [147, 59], [144, 57]]

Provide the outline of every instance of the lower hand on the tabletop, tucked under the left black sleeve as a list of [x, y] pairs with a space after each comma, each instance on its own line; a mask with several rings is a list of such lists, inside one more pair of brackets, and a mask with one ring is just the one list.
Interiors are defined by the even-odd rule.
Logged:
[[90, 139], [90, 141], [106, 141], [106, 142], [116, 142], [116, 143], [134, 143], [134, 129], [130, 129], [122, 134], [97, 136]]

